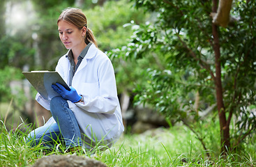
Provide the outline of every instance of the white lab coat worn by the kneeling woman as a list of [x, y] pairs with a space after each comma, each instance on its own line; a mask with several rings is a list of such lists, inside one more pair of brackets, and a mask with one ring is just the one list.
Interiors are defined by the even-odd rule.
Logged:
[[[68, 85], [69, 70], [70, 63], [64, 55], [59, 59], [56, 71]], [[82, 136], [87, 136], [85, 142], [101, 140], [105, 144], [111, 142], [111, 145], [123, 133], [121, 108], [112, 63], [95, 45], [89, 47], [74, 74], [72, 86], [84, 97], [84, 104], [68, 100], [68, 105], [75, 114]], [[50, 100], [44, 100], [39, 94], [36, 100], [50, 110]], [[50, 121], [54, 120], [51, 118]]]

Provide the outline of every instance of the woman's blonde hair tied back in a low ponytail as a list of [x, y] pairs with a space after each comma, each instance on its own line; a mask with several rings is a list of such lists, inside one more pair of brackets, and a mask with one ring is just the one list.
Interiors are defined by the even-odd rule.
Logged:
[[82, 29], [84, 26], [86, 27], [86, 35], [84, 37], [84, 42], [88, 45], [89, 42], [92, 42], [96, 47], [98, 47], [96, 39], [93, 35], [93, 32], [87, 27], [87, 19], [79, 8], [66, 8], [62, 11], [61, 15], [59, 15], [59, 19], [57, 21], [57, 24], [59, 24], [59, 21], [64, 20], [66, 22], [69, 22], [70, 24], [73, 24], [78, 29]]

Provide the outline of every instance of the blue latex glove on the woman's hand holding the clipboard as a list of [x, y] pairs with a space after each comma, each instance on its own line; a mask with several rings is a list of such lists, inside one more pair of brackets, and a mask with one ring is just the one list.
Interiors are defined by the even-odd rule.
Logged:
[[59, 93], [63, 97], [63, 99], [70, 100], [71, 102], [79, 102], [81, 100], [81, 96], [77, 94], [77, 90], [70, 86], [70, 90], [67, 90], [59, 83], [52, 84], [52, 88], [55, 92]]

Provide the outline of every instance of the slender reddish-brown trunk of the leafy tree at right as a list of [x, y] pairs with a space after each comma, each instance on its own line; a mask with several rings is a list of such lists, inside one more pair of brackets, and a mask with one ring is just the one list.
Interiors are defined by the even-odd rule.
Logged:
[[[218, 0], [213, 0], [213, 13], [216, 12], [218, 6]], [[227, 154], [227, 151], [230, 148], [229, 141], [229, 125], [227, 125], [227, 118], [225, 116], [225, 106], [223, 102], [223, 88], [221, 81], [221, 65], [220, 65], [220, 44], [218, 38], [218, 26], [212, 24], [212, 33], [213, 33], [213, 50], [215, 54], [215, 66], [216, 66], [216, 78], [215, 78], [215, 87], [216, 87], [216, 99], [218, 107], [218, 117], [220, 120], [220, 145], [221, 152]]]

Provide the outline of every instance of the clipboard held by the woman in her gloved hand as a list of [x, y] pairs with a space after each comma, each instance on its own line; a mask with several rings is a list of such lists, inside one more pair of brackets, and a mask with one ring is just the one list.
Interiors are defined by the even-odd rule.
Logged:
[[31, 71], [22, 72], [22, 74], [45, 100], [60, 96], [59, 93], [53, 90], [52, 84], [59, 83], [67, 90], [70, 90], [69, 86], [56, 71]]

